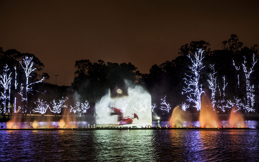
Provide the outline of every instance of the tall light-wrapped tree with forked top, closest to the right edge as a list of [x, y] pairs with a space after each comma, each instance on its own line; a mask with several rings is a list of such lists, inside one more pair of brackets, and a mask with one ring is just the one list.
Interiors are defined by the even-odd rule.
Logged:
[[244, 56], [244, 63], [243, 70], [245, 72], [245, 79], [246, 79], [246, 106], [245, 106], [245, 113], [254, 112], [254, 85], [250, 84], [250, 74], [253, 72], [254, 65], [257, 62], [257, 59], [254, 58], [253, 54], [253, 60], [252, 60], [252, 67], [248, 69], [246, 67], [247, 61], [245, 60]]

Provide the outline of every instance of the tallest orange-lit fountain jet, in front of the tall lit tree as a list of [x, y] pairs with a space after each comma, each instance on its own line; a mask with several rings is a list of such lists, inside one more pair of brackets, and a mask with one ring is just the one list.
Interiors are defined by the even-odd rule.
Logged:
[[201, 127], [218, 127], [218, 116], [216, 112], [213, 111], [211, 101], [206, 95], [203, 95], [201, 98], [201, 112], [199, 120]]

